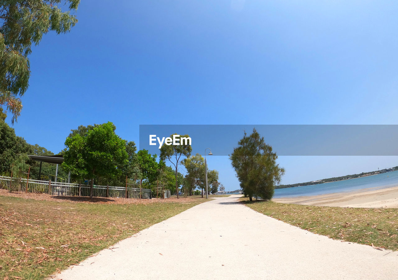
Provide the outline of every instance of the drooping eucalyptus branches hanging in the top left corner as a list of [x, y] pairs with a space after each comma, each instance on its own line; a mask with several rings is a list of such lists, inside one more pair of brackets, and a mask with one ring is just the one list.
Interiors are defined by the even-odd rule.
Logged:
[[[66, 33], [77, 19], [80, 0], [0, 0], [0, 106], [13, 114], [12, 122], [22, 109], [20, 96], [30, 76], [29, 54], [32, 44], [38, 45], [43, 34]], [[57, 6], [67, 7], [64, 11]]]

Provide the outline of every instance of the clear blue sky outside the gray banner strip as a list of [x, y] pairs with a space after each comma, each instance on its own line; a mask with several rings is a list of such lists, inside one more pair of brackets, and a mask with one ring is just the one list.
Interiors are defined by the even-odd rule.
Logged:
[[[397, 15], [384, 0], [82, 0], [70, 33], [33, 48], [14, 128], [57, 153], [107, 121], [136, 142], [139, 124], [398, 124]], [[208, 161], [238, 188], [227, 157]], [[297, 183], [398, 158], [279, 162]]]

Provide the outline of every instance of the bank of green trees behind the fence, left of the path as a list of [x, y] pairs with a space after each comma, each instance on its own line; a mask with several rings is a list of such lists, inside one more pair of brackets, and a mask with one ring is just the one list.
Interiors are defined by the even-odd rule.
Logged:
[[[27, 157], [53, 156], [54, 153], [38, 144], [30, 145], [22, 137], [16, 136], [14, 129], [4, 122], [6, 114], [1, 108], [0, 117], [0, 175], [10, 176], [13, 170], [14, 177], [17, 173], [18, 176], [26, 177], [25, 173], [30, 166], [29, 178], [54, 181], [55, 164], [41, 163], [39, 178], [40, 162]], [[156, 193], [160, 196], [164, 190], [170, 190], [172, 195], [180, 191], [192, 195], [196, 187], [204, 189], [203, 157], [200, 167], [202, 173], [196, 175], [195, 184], [188, 184], [187, 178], [179, 172], [185, 157], [190, 158], [190, 146], [163, 149], [160, 151], [163, 153], [162, 160], [156, 154], [149, 154], [148, 150], [137, 151], [135, 142], [121, 139], [115, 129], [113, 123], [107, 122], [81, 125], [71, 130], [65, 140], [66, 148], [58, 153], [64, 156], [64, 163], [59, 165], [57, 181], [66, 181], [70, 171], [71, 183], [90, 185], [91, 195], [94, 185], [125, 187], [126, 177], [128, 187], [151, 189], [152, 196], [156, 196]], [[172, 167], [166, 165], [166, 160], [173, 164]], [[218, 172], [208, 172], [209, 192], [215, 192], [218, 187]]]

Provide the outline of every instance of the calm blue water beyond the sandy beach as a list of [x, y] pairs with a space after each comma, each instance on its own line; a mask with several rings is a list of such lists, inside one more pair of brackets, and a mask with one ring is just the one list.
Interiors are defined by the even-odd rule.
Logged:
[[333, 192], [354, 191], [354, 190], [368, 189], [368, 188], [384, 189], [394, 186], [398, 186], [398, 170], [367, 176], [367, 177], [349, 179], [345, 181], [286, 188], [286, 189], [276, 189], [273, 197], [276, 198], [276, 197], [286, 197], [286, 196], [317, 195], [317, 194], [326, 194]]

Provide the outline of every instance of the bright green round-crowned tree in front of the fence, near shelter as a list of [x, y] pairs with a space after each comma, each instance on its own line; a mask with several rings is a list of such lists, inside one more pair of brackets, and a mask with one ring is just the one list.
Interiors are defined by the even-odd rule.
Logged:
[[68, 136], [62, 166], [76, 177], [91, 178], [90, 198], [95, 177], [112, 178], [120, 175], [127, 163], [126, 142], [115, 134], [112, 122], [95, 125], [86, 134]]

